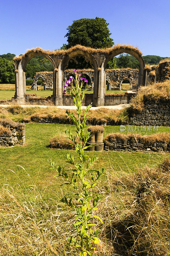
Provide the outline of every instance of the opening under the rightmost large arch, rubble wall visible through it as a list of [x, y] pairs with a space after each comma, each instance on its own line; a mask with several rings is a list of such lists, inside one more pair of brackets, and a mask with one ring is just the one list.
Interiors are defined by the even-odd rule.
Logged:
[[[113, 58], [116, 59], [116, 69], [111, 69], [112, 74], [109, 77], [113, 93], [115, 93], [115, 89], [117, 89], [117, 93], [120, 93], [121, 90], [136, 91], [140, 85], [143, 85], [144, 60], [139, 53], [128, 49], [128, 47], [127, 49], [123, 47], [119, 48], [106, 58], [104, 63], [105, 70], [108, 66], [107, 63]], [[109, 69], [107, 69], [107, 76], [108, 73]]]

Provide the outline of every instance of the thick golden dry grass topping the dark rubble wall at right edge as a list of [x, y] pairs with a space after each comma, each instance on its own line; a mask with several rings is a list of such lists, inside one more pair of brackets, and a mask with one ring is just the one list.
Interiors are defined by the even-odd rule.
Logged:
[[141, 111], [145, 100], [170, 100], [170, 80], [141, 86], [137, 95], [131, 100], [132, 108]]

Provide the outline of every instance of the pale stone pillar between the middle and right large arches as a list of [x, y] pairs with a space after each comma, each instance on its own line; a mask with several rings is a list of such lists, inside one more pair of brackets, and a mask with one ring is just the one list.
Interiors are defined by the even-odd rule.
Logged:
[[104, 67], [94, 70], [93, 106], [104, 106], [106, 73]]

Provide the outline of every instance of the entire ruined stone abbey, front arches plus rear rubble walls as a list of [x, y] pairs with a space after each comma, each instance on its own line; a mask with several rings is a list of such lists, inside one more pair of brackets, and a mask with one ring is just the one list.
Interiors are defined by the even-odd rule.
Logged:
[[[108, 61], [123, 52], [134, 56], [139, 61], [139, 70], [106, 69]], [[31, 95], [26, 95], [25, 76], [25, 68], [28, 61], [38, 55], [47, 58], [52, 63], [54, 70], [53, 72], [37, 73], [33, 80], [32, 89], [36, 90], [37, 80], [41, 78], [44, 82], [44, 90], [53, 90], [48, 100], [51, 100], [55, 106], [72, 105], [69, 96], [63, 95], [63, 90], [66, 79], [73, 73], [73, 70], [67, 70], [68, 62], [76, 56], [83, 56], [85, 60], [90, 60], [93, 68], [81, 70], [82, 74], [88, 76], [89, 83], [93, 90], [93, 93], [85, 96], [85, 106], [91, 102], [92, 105], [96, 107], [129, 103], [131, 93], [123, 93], [121, 95], [113, 94], [111, 97], [110, 95], [106, 95], [106, 90], [121, 90], [122, 82], [128, 80], [130, 89], [136, 91], [140, 86], [147, 85], [148, 82], [154, 82], [156, 80], [154, 68], [151, 70], [151, 68], [145, 66], [142, 53], [133, 46], [116, 45], [108, 49], [92, 49], [76, 45], [68, 50], [58, 50], [54, 52], [35, 48], [14, 58], [16, 89], [14, 98], [17, 99], [19, 104], [25, 104], [28, 99], [30, 104], [32, 104], [33, 101], [38, 103], [38, 99], [35, 99], [36, 97], [32, 97], [32, 100], [30, 100]], [[161, 76], [161, 71], [159, 73], [159, 76]], [[46, 99], [47, 98], [42, 101], [44, 102]]]

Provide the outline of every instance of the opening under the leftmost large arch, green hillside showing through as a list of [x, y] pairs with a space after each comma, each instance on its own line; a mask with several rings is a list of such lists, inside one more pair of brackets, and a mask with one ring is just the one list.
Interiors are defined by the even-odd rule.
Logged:
[[[37, 55], [33, 58], [31, 58], [27, 63], [26, 66], [24, 67], [24, 73], [26, 76], [26, 88], [25, 91], [26, 93], [33, 93], [35, 92], [37, 96], [42, 96], [42, 97], [48, 97], [51, 96], [51, 91], [46, 91], [46, 87], [48, 87], [48, 82], [45, 81], [43, 76], [38, 75], [38, 79], [35, 80], [35, 77], [37, 76], [37, 73], [42, 72], [43, 73], [48, 73], [51, 71], [54, 71], [53, 64], [51, 63], [50, 60], [47, 58]], [[32, 84], [27, 84], [27, 77], [31, 78], [30, 80], [32, 81]], [[31, 85], [31, 88], [30, 88]]]

